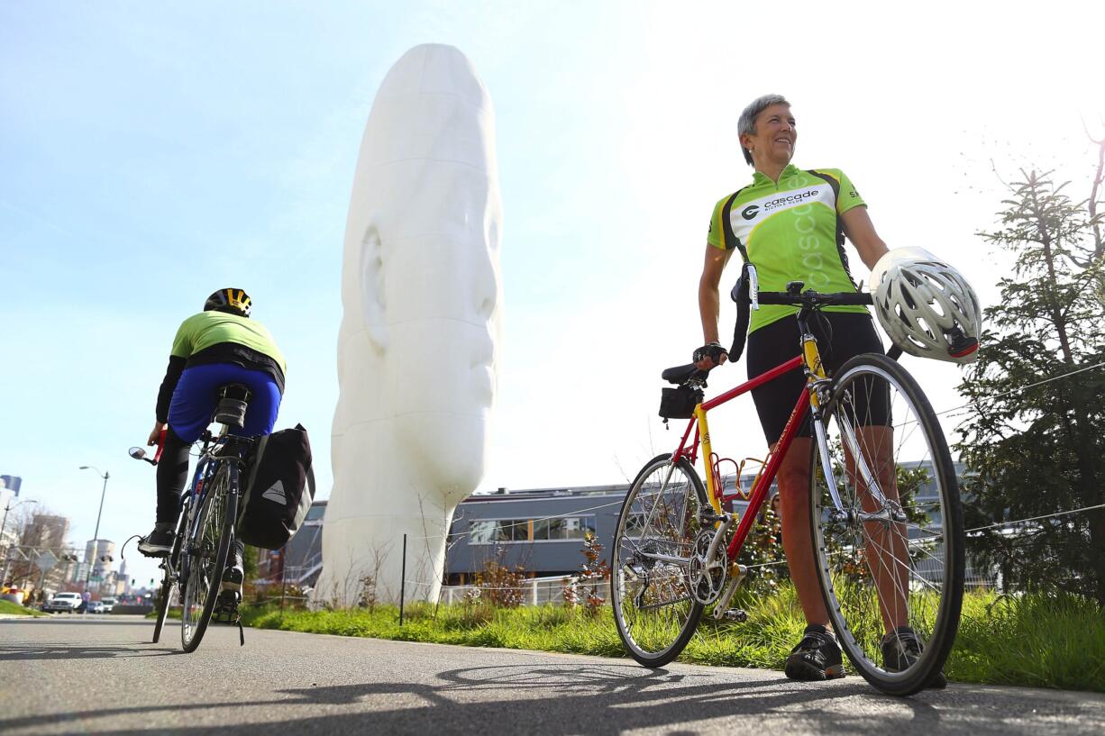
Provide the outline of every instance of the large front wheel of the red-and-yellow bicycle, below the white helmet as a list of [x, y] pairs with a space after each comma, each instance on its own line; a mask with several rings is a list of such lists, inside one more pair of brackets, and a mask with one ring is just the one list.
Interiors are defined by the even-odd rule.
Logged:
[[[871, 397], [875, 391], [885, 391], [891, 407], [885, 431], [872, 428], [878, 422], [870, 417], [864, 425], [864, 418], [856, 413], [863, 402], [853, 401], [861, 392]], [[966, 540], [951, 454], [920, 387], [886, 356], [864, 354], [846, 361], [833, 378], [823, 410], [828, 460], [845, 507], [845, 515], [834, 517], [822, 450], [814, 441], [810, 530], [830, 622], [841, 649], [864, 680], [887, 694], [912, 695], [943, 679], [941, 669], [959, 627]], [[863, 427], [863, 431], [853, 429], [850, 437], [850, 427]], [[841, 450], [834, 456], [833, 443], [838, 442]], [[850, 448], [846, 453], [845, 446]], [[904, 455], [920, 449], [925, 456], [907, 462]], [[855, 462], [856, 454], [862, 463]], [[890, 458], [893, 465], [885, 462]], [[896, 509], [863, 490], [872, 485], [857, 481], [864, 469], [873, 485], [891, 491]], [[896, 518], [891, 518], [887, 508]], [[885, 516], [860, 517], [871, 513]], [[930, 514], [939, 514], [938, 527], [932, 524]], [[912, 628], [923, 645], [904, 669], [892, 666], [882, 652], [884, 635], [904, 641], [899, 625]]]

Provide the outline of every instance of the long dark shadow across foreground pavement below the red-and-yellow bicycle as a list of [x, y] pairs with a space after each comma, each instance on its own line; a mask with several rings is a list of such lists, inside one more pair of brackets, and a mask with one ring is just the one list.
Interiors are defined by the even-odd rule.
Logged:
[[[104, 649], [113, 648], [96, 651]], [[63, 728], [70, 726], [71, 733], [88, 733], [96, 730], [96, 724], [90, 723], [96, 718], [140, 717], [162, 711], [183, 714], [189, 711], [225, 709], [228, 723], [217, 727], [166, 728], [160, 725], [156, 730], [227, 736], [270, 736], [273, 733], [418, 736], [442, 733], [568, 736], [586, 733], [613, 736], [638, 728], [667, 727], [671, 729], [666, 732], [669, 736], [690, 736], [699, 733], [696, 725], [704, 719], [771, 716], [778, 718], [780, 724], [788, 723], [827, 736], [857, 732], [928, 734], [936, 729], [940, 733], [997, 736], [1010, 733], [1011, 722], [1025, 716], [1034, 718], [1036, 706], [1042, 705], [1038, 697], [1031, 696], [1032, 691], [1022, 696], [1018, 691], [980, 692], [979, 688], [953, 685], [947, 691], [892, 698], [880, 695], [859, 677], [825, 686], [790, 683], [771, 673], [762, 679], [719, 683], [717, 675], [708, 673], [674, 673], [593, 662], [466, 667], [440, 672], [436, 679], [440, 684], [365, 683], [274, 688], [272, 700], [248, 703], [228, 695], [222, 702], [193, 705], [104, 708], [0, 719], [0, 732], [59, 724]], [[482, 700], [465, 697], [465, 694], [481, 692], [484, 695]], [[519, 696], [523, 692], [525, 694]], [[305, 705], [312, 706], [313, 715], [302, 715]], [[261, 723], [232, 723], [242, 717], [243, 706], [261, 706], [260, 713], [266, 719]], [[326, 706], [335, 712], [328, 713]], [[876, 707], [887, 709], [888, 715], [875, 715]], [[1071, 700], [1064, 702], [1062, 708], [1054, 704], [1050, 707], [1062, 717], [1065, 734], [1099, 734], [1105, 730], [1105, 708], [1099, 701], [1080, 703]], [[287, 709], [286, 716], [282, 716], [282, 709]], [[187, 716], [181, 717], [181, 721], [187, 719]], [[211, 719], [210, 715], [203, 718], [207, 724]], [[1060, 730], [1057, 723], [1048, 725], [1056, 733]], [[112, 728], [112, 733], [118, 734], [150, 730], [155, 728]], [[1040, 729], [1032, 728], [1032, 733], [1040, 733]]]

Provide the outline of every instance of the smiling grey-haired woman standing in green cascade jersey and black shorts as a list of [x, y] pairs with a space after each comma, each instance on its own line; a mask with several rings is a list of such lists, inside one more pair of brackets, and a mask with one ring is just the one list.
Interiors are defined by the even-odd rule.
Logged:
[[[750, 185], [717, 202], [711, 218], [698, 286], [705, 345], [694, 355], [702, 370], [730, 358], [739, 359], [744, 345], [744, 335], [735, 336], [735, 355], [729, 356], [718, 336], [718, 285], [734, 251], [739, 251], [745, 262], [755, 266], [761, 291], [785, 292], [789, 282], [801, 281], [807, 288], [821, 293], [857, 292], [844, 250], [845, 236], [869, 269], [887, 256], [881, 264], [885, 265], [897, 253], [890, 252], [875, 232], [866, 204], [843, 171], [802, 170], [791, 164], [798, 133], [790, 103], [782, 96], [765, 95], [754, 101], [741, 113], [738, 132], [745, 161], [755, 172]], [[747, 272], [743, 272], [743, 283], [747, 288]], [[792, 318], [797, 312], [796, 306], [764, 305], [751, 313], [747, 336], [749, 378], [794, 357], [800, 337], [797, 320]], [[866, 307], [828, 306], [823, 312], [815, 336], [830, 372], [855, 355], [884, 351]], [[961, 324], [968, 322], [961, 319]], [[908, 330], [906, 325], [903, 332]], [[964, 339], [957, 345], [950, 345], [944, 336], [930, 340], [929, 357], [955, 361], [974, 358], [970, 354], [977, 348], [977, 340], [960, 336]], [[941, 349], [944, 355], [932, 355]], [[772, 451], [804, 380], [799, 371], [791, 371], [751, 391]], [[874, 421], [873, 425], [861, 429], [877, 438], [891, 428], [890, 409], [876, 393], [864, 397], [870, 401], [867, 409]], [[778, 473], [783, 549], [808, 623], [801, 641], [787, 659], [786, 674], [794, 680], [827, 680], [843, 676], [844, 669], [840, 645], [828, 628], [829, 616], [818, 583], [809, 533], [810, 438], [811, 424], [807, 418]], [[888, 671], [904, 670], [920, 652], [922, 642], [913, 630], [902, 625], [904, 621], [884, 623], [887, 629], [883, 640], [884, 666]], [[943, 686], [944, 682], [939, 675], [932, 684]]]

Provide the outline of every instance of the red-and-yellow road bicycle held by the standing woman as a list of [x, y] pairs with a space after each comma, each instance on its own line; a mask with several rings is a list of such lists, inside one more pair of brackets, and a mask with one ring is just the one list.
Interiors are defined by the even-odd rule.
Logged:
[[[940, 671], [959, 625], [965, 543], [951, 455], [928, 400], [894, 359], [864, 354], [825, 374], [811, 318], [829, 305], [871, 304], [871, 295], [801, 288], [758, 295], [799, 307], [793, 359], [708, 401], [694, 365], [663, 372], [678, 388], [665, 389], [662, 413], [690, 421], [678, 448], [649, 461], [623, 502], [611, 555], [614, 620], [627, 651], [657, 667], [678, 656], [707, 609], [718, 620], [747, 618], [730, 608], [748, 574], [737, 558], [809, 414], [810, 534], [830, 623], [867, 682], [912, 694]], [[732, 483], [723, 476], [732, 461], [713, 452], [706, 414], [791, 370], [804, 371], [806, 387], [746, 491], [739, 471]], [[739, 516], [726, 511], [735, 500], [748, 504]], [[923, 650], [899, 669], [883, 661], [883, 645], [903, 630]]]

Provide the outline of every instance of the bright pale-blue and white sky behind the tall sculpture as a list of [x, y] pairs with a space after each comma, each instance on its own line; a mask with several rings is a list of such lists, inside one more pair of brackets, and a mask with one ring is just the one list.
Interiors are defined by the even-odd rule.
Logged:
[[[101, 536], [147, 532], [154, 474], [126, 449], [177, 325], [241, 285], [288, 358], [280, 425], [308, 428], [328, 493], [352, 171], [377, 86], [418, 43], [467, 54], [496, 111], [487, 487], [617, 482], [674, 441], [656, 377], [701, 341], [706, 220], [748, 178], [736, 117], [765, 92], [794, 104], [797, 164], [843, 168], [892, 246], [944, 254], [992, 297], [1004, 261], [974, 234], [1001, 198], [991, 160], [1087, 176], [1102, 10], [848, 8], [0, 1], [0, 472], [80, 543], [101, 486], [77, 466], [95, 464]], [[955, 368], [909, 367], [954, 406]], [[733, 453], [762, 442], [751, 417], [715, 431]]]

